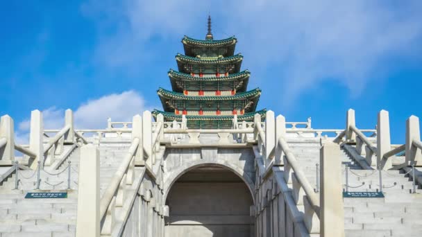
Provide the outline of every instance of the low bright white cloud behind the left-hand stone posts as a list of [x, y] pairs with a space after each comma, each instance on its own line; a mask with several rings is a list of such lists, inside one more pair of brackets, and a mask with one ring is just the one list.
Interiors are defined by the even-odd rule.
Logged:
[[[74, 123], [77, 129], [103, 129], [107, 118], [113, 121], [131, 121], [135, 114], [142, 114], [145, 100], [135, 91], [121, 94], [109, 94], [80, 105], [74, 111]], [[49, 107], [42, 111], [44, 129], [60, 129], [65, 123], [65, 109]], [[15, 137], [18, 144], [28, 143], [30, 119], [25, 119], [17, 126]]]

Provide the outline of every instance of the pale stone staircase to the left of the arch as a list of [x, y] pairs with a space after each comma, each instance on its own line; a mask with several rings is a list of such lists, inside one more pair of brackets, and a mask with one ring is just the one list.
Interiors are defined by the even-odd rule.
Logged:
[[[100, 195], [103, 195], [110, 179], [124, 159], [128, 144], [101, 144], [100, 150]], [[0, 237], [5, 236], [75, 236], [78, 198], [78, 166], [80, 149], [76, 148], [58, 170], [41, 171], [40, 192], [67, 192], [65, 199], [25, 199], [27, 192], [37, 192], [36, 173], [19, 170], [19, 190], [15, 188], [15, 173], [3, 180], [0, 186]], [[67, 190], [67, 161], [71, 161], [71, 190]], [[47, 169], [47, 167], [46, 167]], [[24, 179], [25, 177], [33, 177]], [[62, 182], [62, 184], [58, 184]], [[49, 184], [58, 184], [51, 186]]]

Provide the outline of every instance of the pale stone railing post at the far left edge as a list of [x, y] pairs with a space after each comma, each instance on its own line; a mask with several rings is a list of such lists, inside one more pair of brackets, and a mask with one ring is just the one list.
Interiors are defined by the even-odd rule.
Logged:
[[13, 119], [8, 115], [1, 116], [0, 119], [0, 139], [6, 138], [6, 146], [0, 148], [1, 163], [12, 165], [15, 160], [15, 132]]

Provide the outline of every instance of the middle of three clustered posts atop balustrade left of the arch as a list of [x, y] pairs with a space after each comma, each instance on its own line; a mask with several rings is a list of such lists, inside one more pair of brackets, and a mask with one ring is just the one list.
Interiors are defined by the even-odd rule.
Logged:
[[144, 159], [146, 165], [153, 167], [153, 137], [152, 137], [152, 116], [148, 110], [142, 114], [142, 146], [144, 147]]

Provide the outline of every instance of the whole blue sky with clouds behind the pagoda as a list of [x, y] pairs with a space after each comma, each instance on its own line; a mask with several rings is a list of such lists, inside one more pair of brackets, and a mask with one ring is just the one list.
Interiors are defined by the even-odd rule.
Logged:
[[235, 35], [260, 87], [258, 108], [314, 128], [358, 128], [390, 113], [393, 143], [422, 117], [422, 2], [407, 1], [5, 1], [1, 3], [0, 114], [25, 136], [32, 109], [46, 128], [64, 109], [79, 128], [104, 128], [159, 108], [183, 35]]

